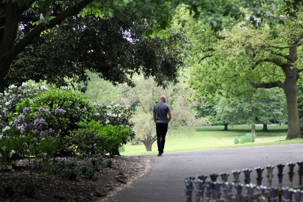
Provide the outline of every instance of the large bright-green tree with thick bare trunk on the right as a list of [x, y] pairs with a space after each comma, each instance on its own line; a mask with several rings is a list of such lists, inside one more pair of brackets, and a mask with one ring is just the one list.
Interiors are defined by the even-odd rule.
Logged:
[[[297, 6], [302, 8], [301, 3]], [[292, 26], [277, 25], [275, 37], [266, 24], [254, 29], [246, 21], [223, 32], [225, 39], [216, 47], [217, 55], [193, 71], [193, 74], [203, 72], [205, 77], [200, 74], [203, 81], [199, 78], [197, 82], [197, 77], [193, 80], [202, 86], [192, 87], [200, 92], [219, 89], [228, 97], [252, 94], [257, 88], [282, 88], [288, 108], [286, 139], [292, 139], [297, 137], [299, 127], [296, 84], [303, 71], [298, 60], [303, 44], [302, 12], [297, 12], [297, 18], [280, 14]]]

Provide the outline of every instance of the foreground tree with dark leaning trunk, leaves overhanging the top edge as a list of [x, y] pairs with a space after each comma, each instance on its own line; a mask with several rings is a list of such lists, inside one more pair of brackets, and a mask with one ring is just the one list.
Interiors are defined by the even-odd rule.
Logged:
[[[129, 15], [135, 18], [144, 18], [149, 23], [149, 28], [143, 33], [143, 37], [168, 37], [165, 32], [170, 28], [170, 19], [177, 5], [185, 3], [188, 9], [195, 13], [195, 18], [200, 18], [203, 23], [210, 24], [212, 28], [221, 28], [221, 22], [231, 22], [233, 18], [238, 19], [243, 13], [238, 12], [240, 7], [249, 8], [256, 17], [265, 18], [270, 27], [275, 23], [285, 23], [280, 16], [267, 15], [268, 11], [278, 8], [273, 5], [283, 3], [279, 0], [267, 0], [264, 2], [247, 0], [242, 1], [120, 1], [112, 0], [108, 2], [98, 0], [77, 0], [65, 1], [63, 6], [55, 0], [4, 0], [0, 3], [0, 89], [4, 87], [4, 78], [16, 58], [26, 46], [31, 45], [32, 41], [41, 35], [42, 32], [58, 27], [66, 18], [84, 17], [94, 14], [96, 17], [117, 16], [122, 18]], [[293, 8], [299, 0], [287, 2], [288, 8]], [[260, 7], [263, 3], [266, 7]], [[84, 8], [84, 9], [83, 9]], [[295, 12], [287, 10], [293, 16]], [[39, 17], [41, 20], [39, 21]], [[252, 21], [256, 24], [255, 21]], [[17, 35], [20, 36], [17, 38]], [[138, 67], [139, 68], [139, 67]], [[142, 69], [142, 73], [145, 69]], [[127, 70], [125, 70], [127, 72]], [[158, 72], [159, 73], [159, 72]], [[156, 74], [155, 76], [158, 76]], [[162, 77], [160, 77], [162, 78]], [[159, 82], [161, 79], [158, 79]], [[117, 78], [116, 78], [117, 79]], [[120, 78], [121, 79], [121, 78]], [[118, 79], [119, 80], [119, 79]], [[161, 83], [161, 82], [160, 82]], [[164, 84], [164, 81], [163, 83]]]

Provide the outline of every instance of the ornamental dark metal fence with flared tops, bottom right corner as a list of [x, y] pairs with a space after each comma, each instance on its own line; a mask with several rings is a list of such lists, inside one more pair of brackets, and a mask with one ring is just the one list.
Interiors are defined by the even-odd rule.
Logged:
[[[252, 170], [244, 169], [241, 171], [232, 171], [233, 181], [228, 182], [228, 173], [211, 174], [208, 176], [200, 175], [197, 177], [185, 178], [185, 193], [186, 202], [192, 201], [206, 201], [206, 202], [241, 202], [241, 201], [268, 201], [268, 202], [300, 202], [302, 201], [303, 186], [302, 186], [302, 175], [303, 175], [303, 162], [297, 162], [297, 175], [295, 175], [296, 182], [298, 185], [293, 186], [295, 165], [288, 163], [288, 183], [287, 187], [282, 187], [283, 180], [283, 168], [285, 165], [278, 164], [277, 176], [275, 179], [278, 182], [278, 186], [273, 186], [272, 181], [274, 179], [273, 170], [275, 166], [266, 166], [267, 171], [267, 187], [262, 185], [262, 173], [265, 170], [262, 167], [256, 167], [256, 184], [251, 184], [250, 174]], [[241, 176], [241, 173], [244, 176]], [[218, 177], [221, 177], [221, 181]], [[244, 178], [244, 184], [240, 183], [240, 176]], [[283, 181], [285, 184], [285, 181]]]

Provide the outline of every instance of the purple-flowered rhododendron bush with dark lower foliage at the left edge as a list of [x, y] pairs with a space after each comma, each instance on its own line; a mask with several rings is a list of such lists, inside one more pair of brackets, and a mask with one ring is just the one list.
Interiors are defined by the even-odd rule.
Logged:
[[1, 167], [16, 164], [23, 156], [48, 159], [58, 153], [60, 128], [67, 125], [61, 109], [25, 107], [22, 112], [9, 114], [5, 134], [0, 138]]

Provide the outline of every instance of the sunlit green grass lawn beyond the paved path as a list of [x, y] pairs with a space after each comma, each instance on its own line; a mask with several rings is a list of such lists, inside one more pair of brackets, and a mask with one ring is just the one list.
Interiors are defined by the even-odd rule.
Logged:
[[[251, 126], [236, 125], [228, 126], [229, 131], [222, 131], [223, 126], [204, 126], [196, 128], [193, 136], [188, 135], [167, 135], [165, 142], [165, 153], [179, 151], [196, 151], [207, 149], [221, 149], [232, 147], [254, 147], [279, 144], [301, 144], [302, 139], [285, 140], [287, 125], [268, 126], [268, 132], [261, 131], [263, 126], [256, 126], [257, 138], [253, 143], [234, 144], [234, 138], [251, 132]], [[152, 151], [146, 151], [144, 144], [127, 144], [125, 152], [121, 155], [143, 155], [157, 154], [157, 142], [152, 145]]]

